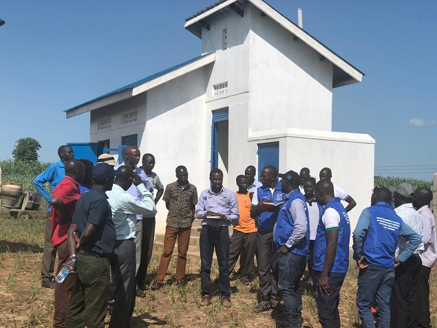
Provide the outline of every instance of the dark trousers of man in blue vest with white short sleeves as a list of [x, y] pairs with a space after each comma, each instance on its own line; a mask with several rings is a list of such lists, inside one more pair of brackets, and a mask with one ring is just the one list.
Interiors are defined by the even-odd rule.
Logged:
[[[321, 271], [315, 271], [317, 280], [317, 289], [319, 289], [319, 278]], [[340, 328], [339, 302], [340, 289], [343, 286], [346, 274], [329, 274], [329, 289], [331, 294], [321, 295], [317, 291], [317, 312], [319, 313], [319, 322], [323, 328]]]

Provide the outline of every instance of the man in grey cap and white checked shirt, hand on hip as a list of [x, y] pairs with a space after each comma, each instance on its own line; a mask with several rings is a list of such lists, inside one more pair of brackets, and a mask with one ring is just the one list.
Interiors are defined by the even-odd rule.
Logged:
[[[401, 216], [402, 221], [423, 238], [423, 216], [414, 209], [412, 201], [414, 188], [409, 183], [401, 183], [394, 191], [394, 212]], [[407, 248], [408, 241], [400, 237], [396, 248], [396, 257]], [[416, 283], [420, 274], [423, 243], [416, 248], [412, 256], [396, 268], [390, 300], [391, 327], [412, 327], [416, 320]]]

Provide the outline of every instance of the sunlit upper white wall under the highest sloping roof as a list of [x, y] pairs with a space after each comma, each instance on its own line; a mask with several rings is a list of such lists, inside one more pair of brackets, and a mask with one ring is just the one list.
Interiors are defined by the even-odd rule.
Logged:
[[250, 129], [332, 130], [332, 63], [256, 8], [249, 39]]

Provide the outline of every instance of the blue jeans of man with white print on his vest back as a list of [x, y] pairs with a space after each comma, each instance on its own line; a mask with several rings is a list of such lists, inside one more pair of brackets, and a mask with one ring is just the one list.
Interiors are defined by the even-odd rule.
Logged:
[[360, 269], [358, 291], [356, 291], [356, 308], [364, 328], [374, 328], [370, 306], [376, 300], [379, 314], [379, 328], [390, 327], [390, 296], [394, 282], [394, 269], [369, 265]]

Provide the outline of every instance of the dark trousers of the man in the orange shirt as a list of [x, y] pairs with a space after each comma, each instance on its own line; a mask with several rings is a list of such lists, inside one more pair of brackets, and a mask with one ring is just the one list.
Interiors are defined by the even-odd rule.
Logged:
[[[242, 252], [243, 249], [246, 250], [246, 257], [242, 263]], [[229, 273], [231, 273], [237, 264], [238, 256], [240, 256], [239, 261], [239, 276], [250, 276], [253, 271], [253, 256], [257, 250], [257, 232], [250, 232], [248, 234], [244, 232], [239, 232], [238, 230], [233, 231], [231, 237], [231, 243], [229, 244]]]

